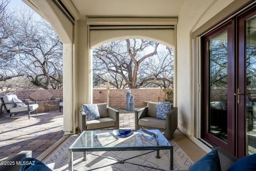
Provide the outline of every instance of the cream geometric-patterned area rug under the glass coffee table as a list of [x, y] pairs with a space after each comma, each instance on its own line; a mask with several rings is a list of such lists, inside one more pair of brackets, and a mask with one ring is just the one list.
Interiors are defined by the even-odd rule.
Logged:
[[[68, 170], [68, 148], [77, 139], [78, 135], [70, 136], [65, 142], [63, 142], [57, 150], [55, 150], [49, 158], [44, 160], [45, 164], [55, 171]], [[174, 170], [188, 169], [193, 161], [187, 156], [187, 154], [180, 148], [180, 146], [174, 141], [170, 141], [173, 145], [173, 159]], [[108, 158], [126, 159], [129, 157], [137, 156], [138, 154], [148, 151], [111, 151], [111, 152], [93, 152], [100, 156], [106, 156]], [[105, 159], [97, 157], [92, 154], [87, 154], [86, 161], [83, 161], [82, 152], [74, 152], [74, 170], [83, 171], [92, 168], [97, 168], [116, 162], [115, 160]], [[156, 152], [151, 152], [143, 156], [127, 160], [135, 164], [146, 165], [155, 168], [161, 168], [169, 170], [169, 150], [160, 151], [160, 159], [157, 159]], [[145, 168], [141, 166], [135, 166], [131, 164], [116, 164], [108, 167], [104, 167], [97, 170], [118, 170], [118, 171], [130, 171], [130, 170], [156, 170]]]

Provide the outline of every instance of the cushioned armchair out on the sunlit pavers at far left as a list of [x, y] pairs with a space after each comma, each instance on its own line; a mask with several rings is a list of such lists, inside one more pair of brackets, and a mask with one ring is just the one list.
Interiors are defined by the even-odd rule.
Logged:
[[[14, 103], [13, 98], [18, 99], [17, 95], [15, 94], [4, 95], [3, 97], [0, 98], [1, 99], [0, 115], [2, 115], [3, 108], [5, 113], [10, 116], [18, 113], [28, 113], [28, 119], [30, 119], [30, 113], [32, 111], [36, 111], [36, 115], [37, 115], [37, 108], [38, 108], [37, 101], [26, 101], [26, 102]], [[25, 103], [26, 105], [22, 107], [17, 107], [18, 103]]]

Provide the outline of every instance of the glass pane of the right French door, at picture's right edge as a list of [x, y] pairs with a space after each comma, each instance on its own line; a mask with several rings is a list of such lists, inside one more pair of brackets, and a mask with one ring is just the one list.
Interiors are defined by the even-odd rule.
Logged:
[[256, 17], [246, 21], [246, 143], [256, 153]]

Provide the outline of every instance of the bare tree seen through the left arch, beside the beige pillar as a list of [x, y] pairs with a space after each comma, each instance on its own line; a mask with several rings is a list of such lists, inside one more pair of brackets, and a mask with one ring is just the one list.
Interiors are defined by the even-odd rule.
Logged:
[[0, 81], [20, 77], [29, 80], [26, 89], [62, 88], [62, 43], [49, 23], [33, 21], [30, 12], [13, 20], [16, 30], [7, 40], [14, 53], [2, 59]]

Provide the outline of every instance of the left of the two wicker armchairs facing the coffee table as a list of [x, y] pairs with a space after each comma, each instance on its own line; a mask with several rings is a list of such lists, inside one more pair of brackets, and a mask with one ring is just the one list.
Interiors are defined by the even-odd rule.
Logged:
[[82, 108], [78, 109], [78, 127], [81, 132], [91, 129], [119, 129], [119, 112], [107, 106], [107, 103], [97, 104], [100, 119], [87, 120]]

